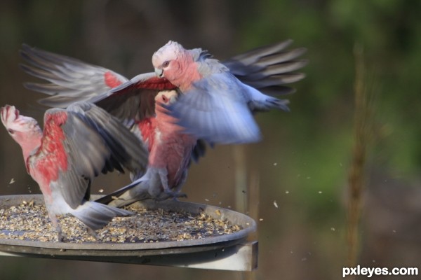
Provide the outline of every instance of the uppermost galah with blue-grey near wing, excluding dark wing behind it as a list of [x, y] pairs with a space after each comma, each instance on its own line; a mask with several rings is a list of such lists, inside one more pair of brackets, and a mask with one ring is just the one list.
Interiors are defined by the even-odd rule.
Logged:
[[241, 144], [260, 140], [253, 111], [288, 111], [288, 101], [242, 83], [227, 66], [200, 48], [186, 50], [169, 41], [152, 56], [155, 73], [182, 92], [166, 106], [185, 133], [210, 143]]

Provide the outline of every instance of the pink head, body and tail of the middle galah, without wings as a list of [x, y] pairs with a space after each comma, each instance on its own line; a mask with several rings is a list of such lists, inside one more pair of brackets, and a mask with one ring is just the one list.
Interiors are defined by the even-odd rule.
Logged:
[[177, 101], [175, 90], [162, 90], [156, 94], [154, 118], [144, 118], [140, 127], [141, 138], [149, 150], [147, 172], [140, 179], [114, 193], [100, 198], [97, 202], [114, 207], [123, 207], [138, 200], [153, 198], [166, 200], [180, 197], [182, 185], [187, 179], [189, 161], [197, 139], [182, 132], [175, 119], [166, 114], [163, 105]]

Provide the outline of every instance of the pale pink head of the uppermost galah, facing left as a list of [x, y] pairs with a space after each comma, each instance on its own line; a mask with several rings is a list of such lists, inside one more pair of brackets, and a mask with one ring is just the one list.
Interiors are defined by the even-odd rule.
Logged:
[[177, 80], [182, 75], [182, 62], [186, 50], [177, 42], [169, 41], [152, 55], [156, 76], [167, 78], [170, 82]]

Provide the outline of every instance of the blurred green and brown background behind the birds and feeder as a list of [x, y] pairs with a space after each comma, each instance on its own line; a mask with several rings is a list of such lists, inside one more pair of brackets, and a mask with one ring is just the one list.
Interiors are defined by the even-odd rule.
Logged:
[[[347, 263], [356, 43], [377, 89], [357, 264], [421, 269], [420, 15], [419, 0], [2, 1], [0, 105], [40, 121], [41, 94], [22, 87], [34, 80], [18, 66], [22, 43], [129, 78], [152, 71], [153, 52], [168, 40], [225, 59], [292, 38], [293, 48], [308, 49], [309, 64], [288, 97], [291, 112], [257, 116], [262, 142], [209, 150], [183, 189], [188, 201], [232, 209], [250, 200], [244, 211], [258, 221], [256, 272], [1, 257], [0, 278], [339, 279]], [[39, 193], [6, 130], [0, 143], [0, 195]], [[259, 186], [258, 196], [241, 186], [241, 174]], [[106, 178], [93, 193], [127, 181]], [[244, 190], [237, 202], [236, 184]]]

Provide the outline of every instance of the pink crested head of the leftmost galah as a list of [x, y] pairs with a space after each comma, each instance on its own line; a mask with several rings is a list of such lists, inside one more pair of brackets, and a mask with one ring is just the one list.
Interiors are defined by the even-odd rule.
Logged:
[[6, 127], [8, 134], [18, 143], [25, 140], [27, 134], [41, 131], [34, 118], [20, 115], [19, 110], [15, 106], [6, 105], [1, 107], [0, 114], [1, 123]]

